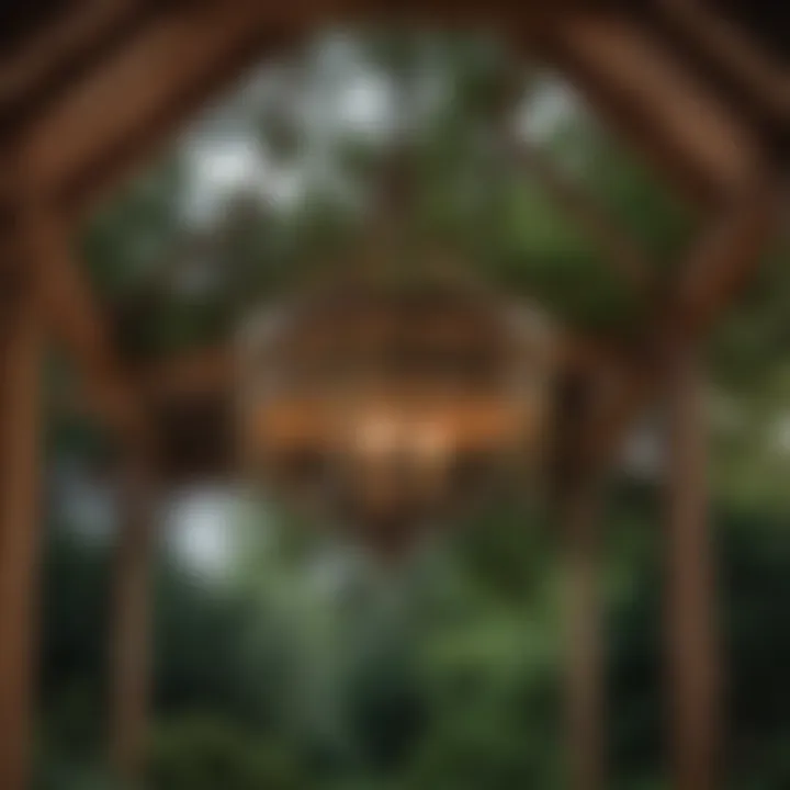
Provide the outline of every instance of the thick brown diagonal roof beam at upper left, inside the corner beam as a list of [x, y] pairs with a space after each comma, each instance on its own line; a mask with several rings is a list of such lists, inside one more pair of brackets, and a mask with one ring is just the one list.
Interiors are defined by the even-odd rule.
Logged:
[[31, 131], [36, 182], [47, 193], [92, 200], [90, 181], [111, 188], [266, 45], [316, 24], [320, 15], [312, 19], [309, 8], [248, 0], [165, 4]]

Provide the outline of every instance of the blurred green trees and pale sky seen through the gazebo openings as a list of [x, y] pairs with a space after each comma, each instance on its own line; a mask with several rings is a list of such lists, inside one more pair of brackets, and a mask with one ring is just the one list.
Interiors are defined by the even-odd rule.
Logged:
[[[503, 95], [510, 99], [503, 111]], [[514, 100], [515, 97], [515, 100]], [[116, 342], [146, 363], [353, 257], [406, 140], [397, 249], [452, 250], [563, 327], [637, 332], [645, 304], [500, 131], [584, 184], [670, 276], [695, 217], [575, 90], [484, 35], [330, 31], [251, 72], [81, 232]], [[402, 154], [402, 156], [404, 156]], [[402, 242], [402, 244], [400, 244]], [[726, 670], [729, 787], [790, 787], [790, 269], [775, 245], [716, 328], [706, 399]], [[119, 490], [99, 427], [47, 375], [35, 787], [112, 787], [108, 645]], [[610, 787], [668, 787], [654, 416], [601, 516]], [[263, 490], [204, 475], [161, 501], [153, 611], [157, 790], [565, 787], [558, 540], [542, 497], [500, 496], [396, 566]]]

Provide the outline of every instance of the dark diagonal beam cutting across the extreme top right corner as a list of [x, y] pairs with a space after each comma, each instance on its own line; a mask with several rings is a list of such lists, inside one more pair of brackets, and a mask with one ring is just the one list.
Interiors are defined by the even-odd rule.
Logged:
[[790, 72], [783, 64], [699, 0], [661, 0], [658, 5], [675, 31], [754, 95], [775, 121], [790, 123]]

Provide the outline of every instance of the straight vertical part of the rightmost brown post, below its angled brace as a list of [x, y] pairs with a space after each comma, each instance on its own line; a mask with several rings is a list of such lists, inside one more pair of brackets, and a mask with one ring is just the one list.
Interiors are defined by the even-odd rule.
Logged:
[[667, 366], [666, 657], [673, 788], [713, 790], [721, 709], [706, 419], [696, 343]]

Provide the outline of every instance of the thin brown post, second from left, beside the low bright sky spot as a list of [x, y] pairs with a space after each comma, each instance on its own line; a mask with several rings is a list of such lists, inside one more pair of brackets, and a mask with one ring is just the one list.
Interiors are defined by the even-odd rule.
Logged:
[[111, 760], [124, 788], [142, 782], [150, 696], [150, 569], [157, 496], [150, 452], [127, 448], [111, 646]]

